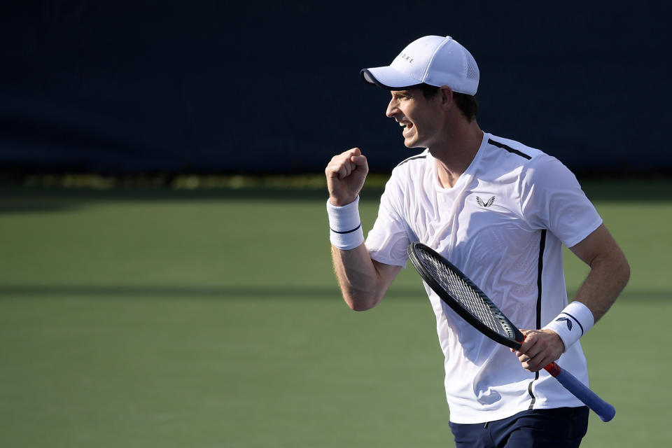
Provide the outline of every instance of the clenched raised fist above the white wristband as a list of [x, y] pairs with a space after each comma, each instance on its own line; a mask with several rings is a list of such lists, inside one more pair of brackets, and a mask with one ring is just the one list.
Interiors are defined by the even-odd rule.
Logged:
[[335, 155], [324, 170], [331, 204], [342, 207], [356, 200], [368, 172], [369, 165], [359, 148]]

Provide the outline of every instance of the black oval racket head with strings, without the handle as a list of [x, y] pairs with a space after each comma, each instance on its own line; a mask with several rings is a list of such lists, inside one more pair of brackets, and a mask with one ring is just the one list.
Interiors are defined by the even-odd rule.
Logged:
[[425, 283], [465, 321], [493, 341], [519, 349], [523, 334], [468, 276], [425, 244], [414, 242], [409, 259]]

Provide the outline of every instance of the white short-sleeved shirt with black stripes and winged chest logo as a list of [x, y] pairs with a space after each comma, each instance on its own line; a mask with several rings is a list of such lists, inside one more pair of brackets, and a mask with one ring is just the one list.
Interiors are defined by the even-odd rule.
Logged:
[[[461, 269], [521, 329], [541, 328], [567, 305], [562, 244], [571, 247], [602, 220], [575, 176], [538, 149], [484, 134], [453, 188], [442, 188], [428, 150], [393, 169], [366, 239], [372, 259], [405, 267], [421, 241]], [[483, 423], [526, 409], [582, 406], [545, 371], [463, 321], [428, 286], [445, 356], [450, 420]], [[558, 364], [588, 384], [580, 344]]]

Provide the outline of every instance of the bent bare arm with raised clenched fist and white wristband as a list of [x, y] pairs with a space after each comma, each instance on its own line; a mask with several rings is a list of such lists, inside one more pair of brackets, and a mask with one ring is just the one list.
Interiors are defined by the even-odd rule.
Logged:
[[[361, 228], [357, 227], [361, 223], [353, 202], [358, 200], [367, 173], [367, 160], [359, 148], [335, 155], [325, 169], [332, 206], [329, 209], [334, 271], [345, 302], [356, 311], [376, 306], [401, 269], [372, 260], [364, 246]], [[335, 223], [348, 224], [334, 228]]]

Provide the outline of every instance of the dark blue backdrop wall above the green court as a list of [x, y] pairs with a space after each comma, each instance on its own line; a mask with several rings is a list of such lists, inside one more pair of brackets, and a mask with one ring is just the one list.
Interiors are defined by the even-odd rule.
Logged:
[[360, 146], [384, 172], [409, 151], [358, 71], [425, 34], [475, 56], [487, 132], [578, 171], [672, 169], [662, 1], [3, 3], [5, 171], [321, 172]]

